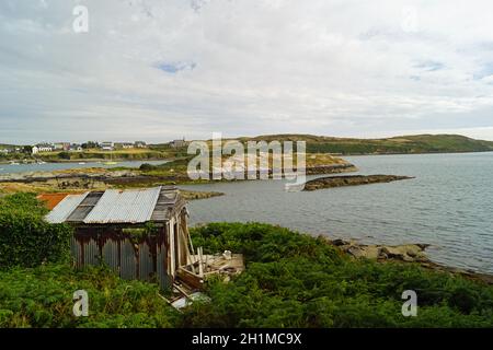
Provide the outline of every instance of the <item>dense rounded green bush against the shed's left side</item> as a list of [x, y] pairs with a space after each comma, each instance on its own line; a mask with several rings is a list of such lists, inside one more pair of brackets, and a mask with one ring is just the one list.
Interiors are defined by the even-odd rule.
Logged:
[[0, 268], [35, 267], [69, 258], [72, 229], [47, 223], [46, 213], [32, 194], [0, 199]]

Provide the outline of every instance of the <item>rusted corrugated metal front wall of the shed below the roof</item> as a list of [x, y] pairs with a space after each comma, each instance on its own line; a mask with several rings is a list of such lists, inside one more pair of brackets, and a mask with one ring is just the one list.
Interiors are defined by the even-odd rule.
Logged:
[[77, 267], [104, 264], [126, 280], [138, 279], [169, 289], [165, 228], [157, 236], [136, 242], [115, 228], [79, 228], [71, 240], [71, 253]]

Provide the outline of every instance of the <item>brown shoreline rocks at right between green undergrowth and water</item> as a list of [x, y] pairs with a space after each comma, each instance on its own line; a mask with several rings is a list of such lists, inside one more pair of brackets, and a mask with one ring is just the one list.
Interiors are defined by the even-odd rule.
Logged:
[[493, 275], [481, 273], [473, 270], [466, 270], [448, 267], [432, 261], [425, 249], [428, 244], [401, 244], [401, 245], [366, 245], [356, 241], [329, 240], [321, 236], [330, 245], [339, 247], [342, 252], [355, 259], [370, 259], [376, 261], [414, 262], [421, 267], [434, 271], [442, 271], [450, 275], [459, 275], [465, 278], [493, 284]]

